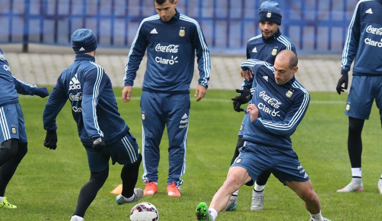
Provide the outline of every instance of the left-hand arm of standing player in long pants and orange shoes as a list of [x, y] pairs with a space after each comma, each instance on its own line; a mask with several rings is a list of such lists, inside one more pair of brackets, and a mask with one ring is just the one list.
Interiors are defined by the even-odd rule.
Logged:
[[129, 54], [127, 55], [125, 76], [123, 77], [124, 88], [122, 90], [122, 100], [124, 102], [130, 101], [132, 85], [134, 84], [135, 77], [137, 77], [139, 65], [147, 48], [148, 42], [144, 31], [144, 22], [145, 21], [141, 22], [137, 35], [135, 35], [135, 39], [131, 44]]

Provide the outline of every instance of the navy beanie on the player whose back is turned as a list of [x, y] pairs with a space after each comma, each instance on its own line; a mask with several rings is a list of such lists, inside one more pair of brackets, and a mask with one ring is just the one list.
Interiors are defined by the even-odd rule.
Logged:
[[97, 48], [97, 37], [93, 31], [86, 28], [77, 29], [71, 37], [74, 53], [83, 54]]

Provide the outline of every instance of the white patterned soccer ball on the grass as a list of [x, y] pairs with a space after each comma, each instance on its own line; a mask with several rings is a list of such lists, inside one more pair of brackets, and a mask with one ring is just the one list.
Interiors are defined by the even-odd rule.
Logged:
[[131, 221], [155, 221], [159, 219], [158, 210], [147, 202], [138, 203], [130, 211]]

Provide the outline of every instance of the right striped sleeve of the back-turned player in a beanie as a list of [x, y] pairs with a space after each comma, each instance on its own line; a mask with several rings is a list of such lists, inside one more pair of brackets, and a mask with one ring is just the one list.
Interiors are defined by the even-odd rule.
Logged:
[[99, 128], [97, 120], [97, 105], [99, 93], [102, 92], [105, 85], [103, 68], [98, 66], [85, 73], [84, 77], [81, 107], [85, 130], [92, 139], [102, 138], [103, 132]]

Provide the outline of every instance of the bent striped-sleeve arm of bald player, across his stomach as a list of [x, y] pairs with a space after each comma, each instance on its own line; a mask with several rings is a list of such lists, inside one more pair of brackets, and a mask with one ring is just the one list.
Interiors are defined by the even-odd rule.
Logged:
[[296, 130], [298, 124], [303, 119], [309, 105], [309, 93], [305, 92], [296, 100], [294, 104], [288, 110], [287, 115], [282, 121], [266, 120], [262, 119], [261, 116], [251, 123], [255, 127], [260, 128], [263, 131], [266, 131], [271, 134], [279, 136], [290, 136]]

